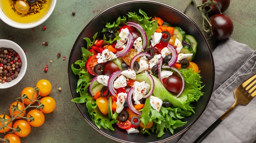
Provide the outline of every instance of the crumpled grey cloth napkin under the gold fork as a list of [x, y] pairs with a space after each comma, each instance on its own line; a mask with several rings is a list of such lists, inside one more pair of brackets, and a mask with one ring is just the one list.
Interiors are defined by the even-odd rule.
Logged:
[[[183, 134], [171, 140], [192, 143], [235, 102], [234, 90], [256, 74], [256, 51], [233, 39], [220, 43], [213, 52], [215, 83], [202, 116]], [[204, 140], [204, 143], [252, 143], [256, 140], [256, 97], [238, 105]]]

